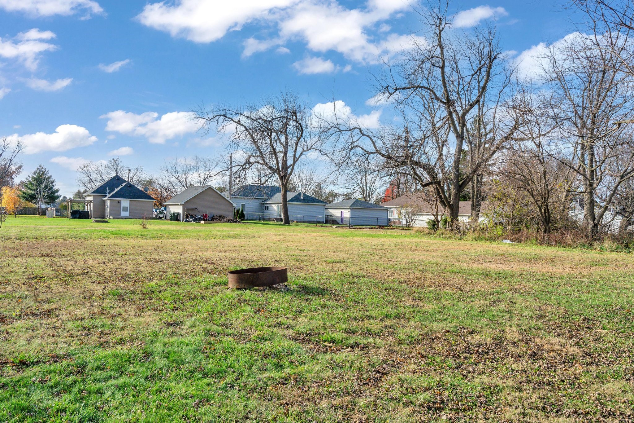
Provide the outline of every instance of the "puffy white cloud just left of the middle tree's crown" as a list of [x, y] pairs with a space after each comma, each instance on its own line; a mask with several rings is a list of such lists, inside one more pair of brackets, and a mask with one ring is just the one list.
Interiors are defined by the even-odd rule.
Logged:
[[198, 131], [198, 124], [192, 120], [193, 114], [190, 112], [171, 112], [162, 115], [160, 119], [157, 117], [159, 114], [155, 112], [138, 115], [124, 110], [101, 116], [102, 119], [108, 119], [106, 131], [144, 136], [155, 144], [164, 144], [172, 138]]

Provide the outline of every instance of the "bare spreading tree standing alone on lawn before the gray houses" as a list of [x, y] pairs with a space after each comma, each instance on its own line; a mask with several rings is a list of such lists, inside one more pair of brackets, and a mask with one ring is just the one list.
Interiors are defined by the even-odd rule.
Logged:
[[281, 93], [245, 107], [217, 107], [195, 112], [206, 130], [230, 133], [228, 149], [234, 154], [233, 170], [240, 174], [254, 166], [275, 176], [281, 189], [283, 223], [288, 216], [288, 185], [295, 167], [309, 152], [321, 150], [322, 136], [311, 126], [311, 108], [293, 93]]

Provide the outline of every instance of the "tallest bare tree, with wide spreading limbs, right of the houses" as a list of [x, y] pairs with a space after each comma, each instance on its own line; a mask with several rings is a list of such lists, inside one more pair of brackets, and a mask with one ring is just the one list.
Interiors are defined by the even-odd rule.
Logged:
[[[453, 227], [463, 191], [513, 138], [521, 114], [509, 95], [512, 72], [493, 28], [458, 32], [442, 0], [420, 15], [426, 42], [405, 51], [378, 77], [382, 94], [396, 101], [403, 126], [368, 131], [344, 122], [337, 129], [349, 134], [347, 148], [379, 155], [421, 188], [432, 186]], [[479, 114], [489, 115], [492, 130], [464, 172], [467, 127], [478, 107]]]

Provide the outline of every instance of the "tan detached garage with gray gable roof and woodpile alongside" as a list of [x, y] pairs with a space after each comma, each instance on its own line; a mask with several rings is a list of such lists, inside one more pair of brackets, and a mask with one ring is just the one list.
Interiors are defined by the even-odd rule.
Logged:
[[233, 218], [235, 204], [211, 185], [190, 186], [183, 192], [165, 202], [167, 214], [178, 212], [180, 220], [184, 221], [186, 214], [194, 214], [208, 218], [225, 216]]

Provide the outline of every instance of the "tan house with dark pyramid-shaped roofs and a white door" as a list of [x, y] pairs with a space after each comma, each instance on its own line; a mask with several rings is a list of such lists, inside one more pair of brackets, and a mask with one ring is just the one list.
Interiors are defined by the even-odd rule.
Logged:
[[154, 198], [119, 175], [85, 193], [84, 197], [93, 202], [93, 219], [139, 219], [153, 216]]

